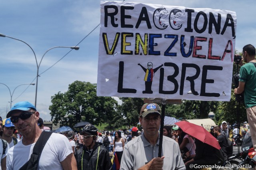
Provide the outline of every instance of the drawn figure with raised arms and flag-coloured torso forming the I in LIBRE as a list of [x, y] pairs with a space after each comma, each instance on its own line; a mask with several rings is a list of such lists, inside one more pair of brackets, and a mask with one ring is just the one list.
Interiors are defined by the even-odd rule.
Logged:
[[145, 77], [144, 77], [144, 81], [145, 81], [145, 90], [142, 91], [142, 93], [147, 93], [147, 94], [152, 94], [153, 91], [151, 90], [151, 86], [152, 86], [152, 81], [153, 81], [153, 77], [154, 77], [154, 73], [156, 73], [156, 71], [158, 69], [160, 69], [162, 65], [160, 65], [159, 67], [156, 67], [155, 69], [153, 69], [153, 63], [148, 62], [148, 68], [146, 69], [145, 67], [143, 67], [140, 63], [138, 63], [138, 65], [140, 65], [140, 67], [145, 71]]

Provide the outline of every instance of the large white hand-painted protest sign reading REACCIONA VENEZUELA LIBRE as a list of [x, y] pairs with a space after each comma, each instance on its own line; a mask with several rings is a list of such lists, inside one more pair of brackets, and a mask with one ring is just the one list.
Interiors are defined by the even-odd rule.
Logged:
[[98, 96], [230, 101], [236, 13], [101, 2]]

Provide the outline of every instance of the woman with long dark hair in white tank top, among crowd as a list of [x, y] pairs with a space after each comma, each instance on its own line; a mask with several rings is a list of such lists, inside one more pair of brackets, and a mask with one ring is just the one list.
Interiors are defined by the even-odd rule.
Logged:
[[124, 139], [122, 138], [120, 131], [116, 131], [113, 144], [114, 144], [113, 150], [116, 153], [118, 162], [120, 164], [123, 150], [124, 150]]

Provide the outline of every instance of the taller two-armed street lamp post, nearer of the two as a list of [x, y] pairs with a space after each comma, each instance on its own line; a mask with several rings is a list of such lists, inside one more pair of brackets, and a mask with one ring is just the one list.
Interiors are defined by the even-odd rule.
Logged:
[[[1, 33], [0, 33], [0, 37], [12, 38], [12, 37], [6, 36], [6, 35], [1, 34]], [[12, 38], [12, 39], [18, 40], [18, 41], [23, 42], [23, 43], [25, 43], [26, 45], [28, 45], [28, 43], [26, 43], [26, 42], [24, 42], [24, 41], [22, 41], [22, 40], [19, 40], [19, 39], [16, 39], [16, 38]], [[37, 71], [36, 71], [36, 97], [35, 97], [35, 107], [36, 107], [38, 77], [40, 76], [40, 75], [39, 75], [39, 67], [40, 67], [40, 64], [41, 64], [41, 62], [42, 62], [42, 59], [44, 58], [44, 55], [45, 55], [48, 51], [50, 51], [51, 49], [54, 49], [54, 48], [71, 48], [71, 49], [78, 50], [78, 49], [79, 49], [79, 46], [68, 46], [68, 47], [65, 47], [65, 46], [56, 46], [56, 47], [52, 47], [52, 48], [48, 49], [48, 50], [44, 53], [44, 55], [42, 56], [42, 58], [41, 58], [39, 64], [38, 64], [38, 62], [37, 62], [36, 53], [34, 52], [34, 50], [32, 49], [32, 47], [31, 47], [30, 45], [28, 45], [28, 47], [30, 47], [30, 49], [33, 51], [34, 56], [35, 56], [35, 59], [36, 59], [36, 68], [37, 68]]]

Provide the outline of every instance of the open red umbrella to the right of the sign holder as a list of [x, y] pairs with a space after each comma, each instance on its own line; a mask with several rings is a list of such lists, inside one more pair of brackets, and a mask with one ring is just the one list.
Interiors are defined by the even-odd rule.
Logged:
[[180, 121], [175, 123], [178, 125], [183, 132], [197, 138], [198, 140], [207, 143], [214, 148], [220, 149], [220, 144], [218, 143], [217, 139], [210, 134], [204, 127], [195, 125], [194, 123], [189, 123], [187, 121]]

